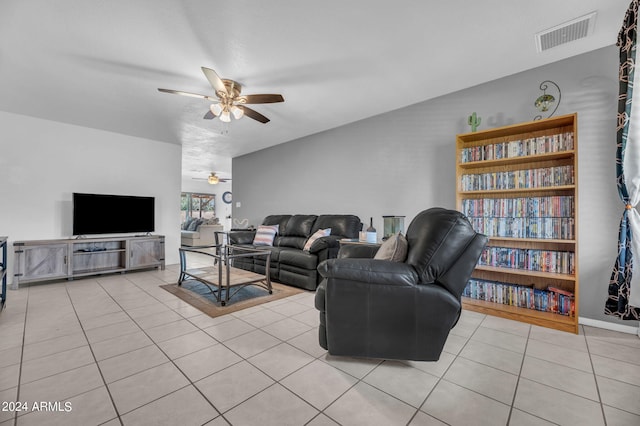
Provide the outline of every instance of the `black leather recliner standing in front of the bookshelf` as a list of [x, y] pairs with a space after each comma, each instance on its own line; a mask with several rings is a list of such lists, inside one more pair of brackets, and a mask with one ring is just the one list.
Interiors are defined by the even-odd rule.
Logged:
[[337, 259], [318, 266], [324, 277], [315, 298], [319, 340], [330, 354], [440, 358], [488, 238], [476, 233], [464, 215], [443, 208], [419, 213], [406, 236], [405, 263], [366, 258], [375, 250], [347, 245]]

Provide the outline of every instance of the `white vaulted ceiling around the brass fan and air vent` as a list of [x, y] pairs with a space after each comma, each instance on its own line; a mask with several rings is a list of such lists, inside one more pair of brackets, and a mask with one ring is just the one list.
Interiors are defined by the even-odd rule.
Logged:
[[[615, 44], [630, 0], [2, 0], [0, 110], [182, 144], [183, 176], [231, 158]], [[537, 53], [534, 34], [596, 11]], [[271, 119], [203, 120], [200, 67]], [[223, 173], [224, 175], [224, 173]]]

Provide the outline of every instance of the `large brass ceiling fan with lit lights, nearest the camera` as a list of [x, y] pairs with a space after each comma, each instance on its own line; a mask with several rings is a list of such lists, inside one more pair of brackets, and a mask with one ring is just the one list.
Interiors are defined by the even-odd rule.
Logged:
[[231, 116], [236, 120], [239, 120], [243, 116], [253, 118], [261, 123], [268, 123], [269, 119], [249, 107], [247, 104], [270, 104], [276, 102], [284, 102], [282, 95], [275, 94], [260, 94], [260, 95], [240, 95], [242, 86], [233, 80], [222, 79], [218, 77], [218, 74], [211, 68], [202, 67], [207, 80], [215, 91], [215, 97], [208, 95], [200, 95], [198, 93], [183, 92], [181, 90], [172, 89], [160, 89], [159, 91], [164, 93], [172, 93], [175, 95], [191, 96], [193, 98], [206, 99], [213, 103], [209, 107], [209, 111], [204, 115], [204, 118], [211, 120], [214, 117], [218, 117], [220, 121], [228, 123], [231, 121]]

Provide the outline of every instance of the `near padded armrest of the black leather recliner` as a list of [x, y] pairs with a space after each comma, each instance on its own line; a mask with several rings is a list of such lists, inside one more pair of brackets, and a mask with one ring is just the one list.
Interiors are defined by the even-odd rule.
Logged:
[[367, 284], [413, 286], [418, 274], [406, 263], [378, 259], [328, 259], [318, 265], [324, 278], [358, 281]]

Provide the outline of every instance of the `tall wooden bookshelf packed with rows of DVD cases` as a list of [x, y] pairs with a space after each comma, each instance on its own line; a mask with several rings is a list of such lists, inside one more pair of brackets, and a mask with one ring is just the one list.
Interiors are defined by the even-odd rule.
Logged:
[[457, 135], [456, 207], [489, 236], [465, 309], [578, 332], [577, 144], [577, 114]]

